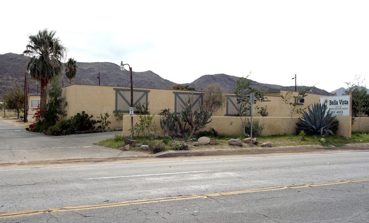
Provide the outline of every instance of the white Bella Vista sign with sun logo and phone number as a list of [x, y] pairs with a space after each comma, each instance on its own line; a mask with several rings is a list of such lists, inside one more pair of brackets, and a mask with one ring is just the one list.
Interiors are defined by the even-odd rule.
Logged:
[[350, 95], [320, 97], [320, 104], [327, 106], [325, 115], [331, 109], [333, 116], [350, 116]]

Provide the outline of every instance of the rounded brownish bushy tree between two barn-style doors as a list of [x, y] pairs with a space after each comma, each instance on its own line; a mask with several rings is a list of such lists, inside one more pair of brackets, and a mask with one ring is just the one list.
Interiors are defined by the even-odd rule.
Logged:
[[217, 111], [224, 107], [226, 98], [223, 87], [219, 83], [211, 83], [205, 88], [203, 97], [204, 108], [208, 111]]

